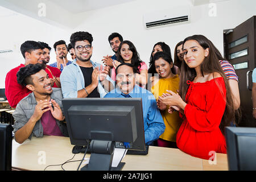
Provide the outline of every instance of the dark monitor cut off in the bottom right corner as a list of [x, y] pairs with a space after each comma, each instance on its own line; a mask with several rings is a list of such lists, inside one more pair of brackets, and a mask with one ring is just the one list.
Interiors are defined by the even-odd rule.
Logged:
[[256, 128], [226, 127], [230, 171], [256, 170]]

